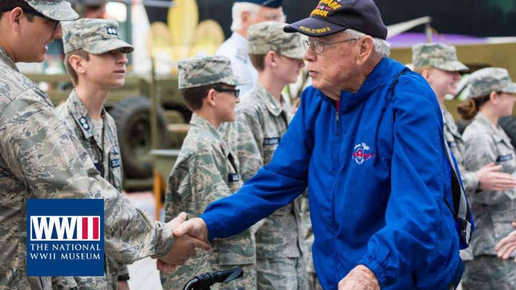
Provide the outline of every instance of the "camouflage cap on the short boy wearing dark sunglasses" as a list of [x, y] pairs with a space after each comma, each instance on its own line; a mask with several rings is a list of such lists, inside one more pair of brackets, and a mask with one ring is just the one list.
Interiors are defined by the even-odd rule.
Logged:
[[190, 58], [178, 63], [179, 88], [195, 88], [216, 83], [230, 86], [245, 85], [243, 79], [235, 76], [230, 59], [225, 56]]

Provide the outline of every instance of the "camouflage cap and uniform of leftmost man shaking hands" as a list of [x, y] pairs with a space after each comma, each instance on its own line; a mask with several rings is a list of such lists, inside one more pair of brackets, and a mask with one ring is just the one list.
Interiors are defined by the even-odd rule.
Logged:
[[[72, 20], [64, 1], [28, 2], [47, 17]], [[136, 210], [96, 170], [49, 97], [23, 76], [0, 47], [0, 289], [51, 289], [50, 277], [26, 276], [29, 198], [104, 199], [105, 252], [132, 263], [166, 254], [170, 225]]]

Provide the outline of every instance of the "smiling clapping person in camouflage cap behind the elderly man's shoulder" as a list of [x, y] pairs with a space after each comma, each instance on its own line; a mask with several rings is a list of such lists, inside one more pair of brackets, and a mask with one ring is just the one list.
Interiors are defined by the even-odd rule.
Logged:
[[[416, 44], [412, 47], [412, 61], [414, 71], [423, 75], [436, 93], [443, 114], [444, 138], [457, 160], [466, 192], [472, 195], [477, 189], [494, 190], [495, 188], [502, 188], [507, 190], [514, 187], [516, 184], [509, 174], [498, 172], [502, 169], [501, 166], [488, 164], [476, 171], [469, 171], [464, 168], [464, 141], [453, 116], [444, 106], [445, 96], [457, 93], [457, 83], [461, 77], [459, 72], [468, 70], [458, 60], [455, 47], [440, 43]], [[463, 261], [473, 260], [471, 247], [462, 250], [460, 254]]]

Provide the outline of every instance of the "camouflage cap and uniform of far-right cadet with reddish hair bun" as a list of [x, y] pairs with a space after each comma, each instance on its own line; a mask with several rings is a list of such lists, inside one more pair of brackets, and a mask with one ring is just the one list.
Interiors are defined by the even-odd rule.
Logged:
[[[468, 80], [469, 97], [491, 91], [516, 93], [516, 85], [504, 69], [487, 68], [473, 73]], [[503, 129], [478, 112], [463, 134], [464, 165], [478, 170], [491, 162], [502, 165], [501, 172], [516, 175], [516, 153]], [[516, 190], [504, 192], [477, 189], [470, 197], [475, 214], [475, 234], [471, 241], [474, 261], [465, 263], [464, 289], [514, 289], [516, 267], [496, 257], [496, 243], [512, 232], [516, 220]]]

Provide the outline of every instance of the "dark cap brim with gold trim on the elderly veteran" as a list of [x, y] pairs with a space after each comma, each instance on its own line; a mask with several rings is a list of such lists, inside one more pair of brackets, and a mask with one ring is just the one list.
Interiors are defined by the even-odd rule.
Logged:
[[323, 37], [346, 29], [348, 27], [309, 17], [285, 26], [283, 31], [286, 33], [298, 32], [311, 37]]

